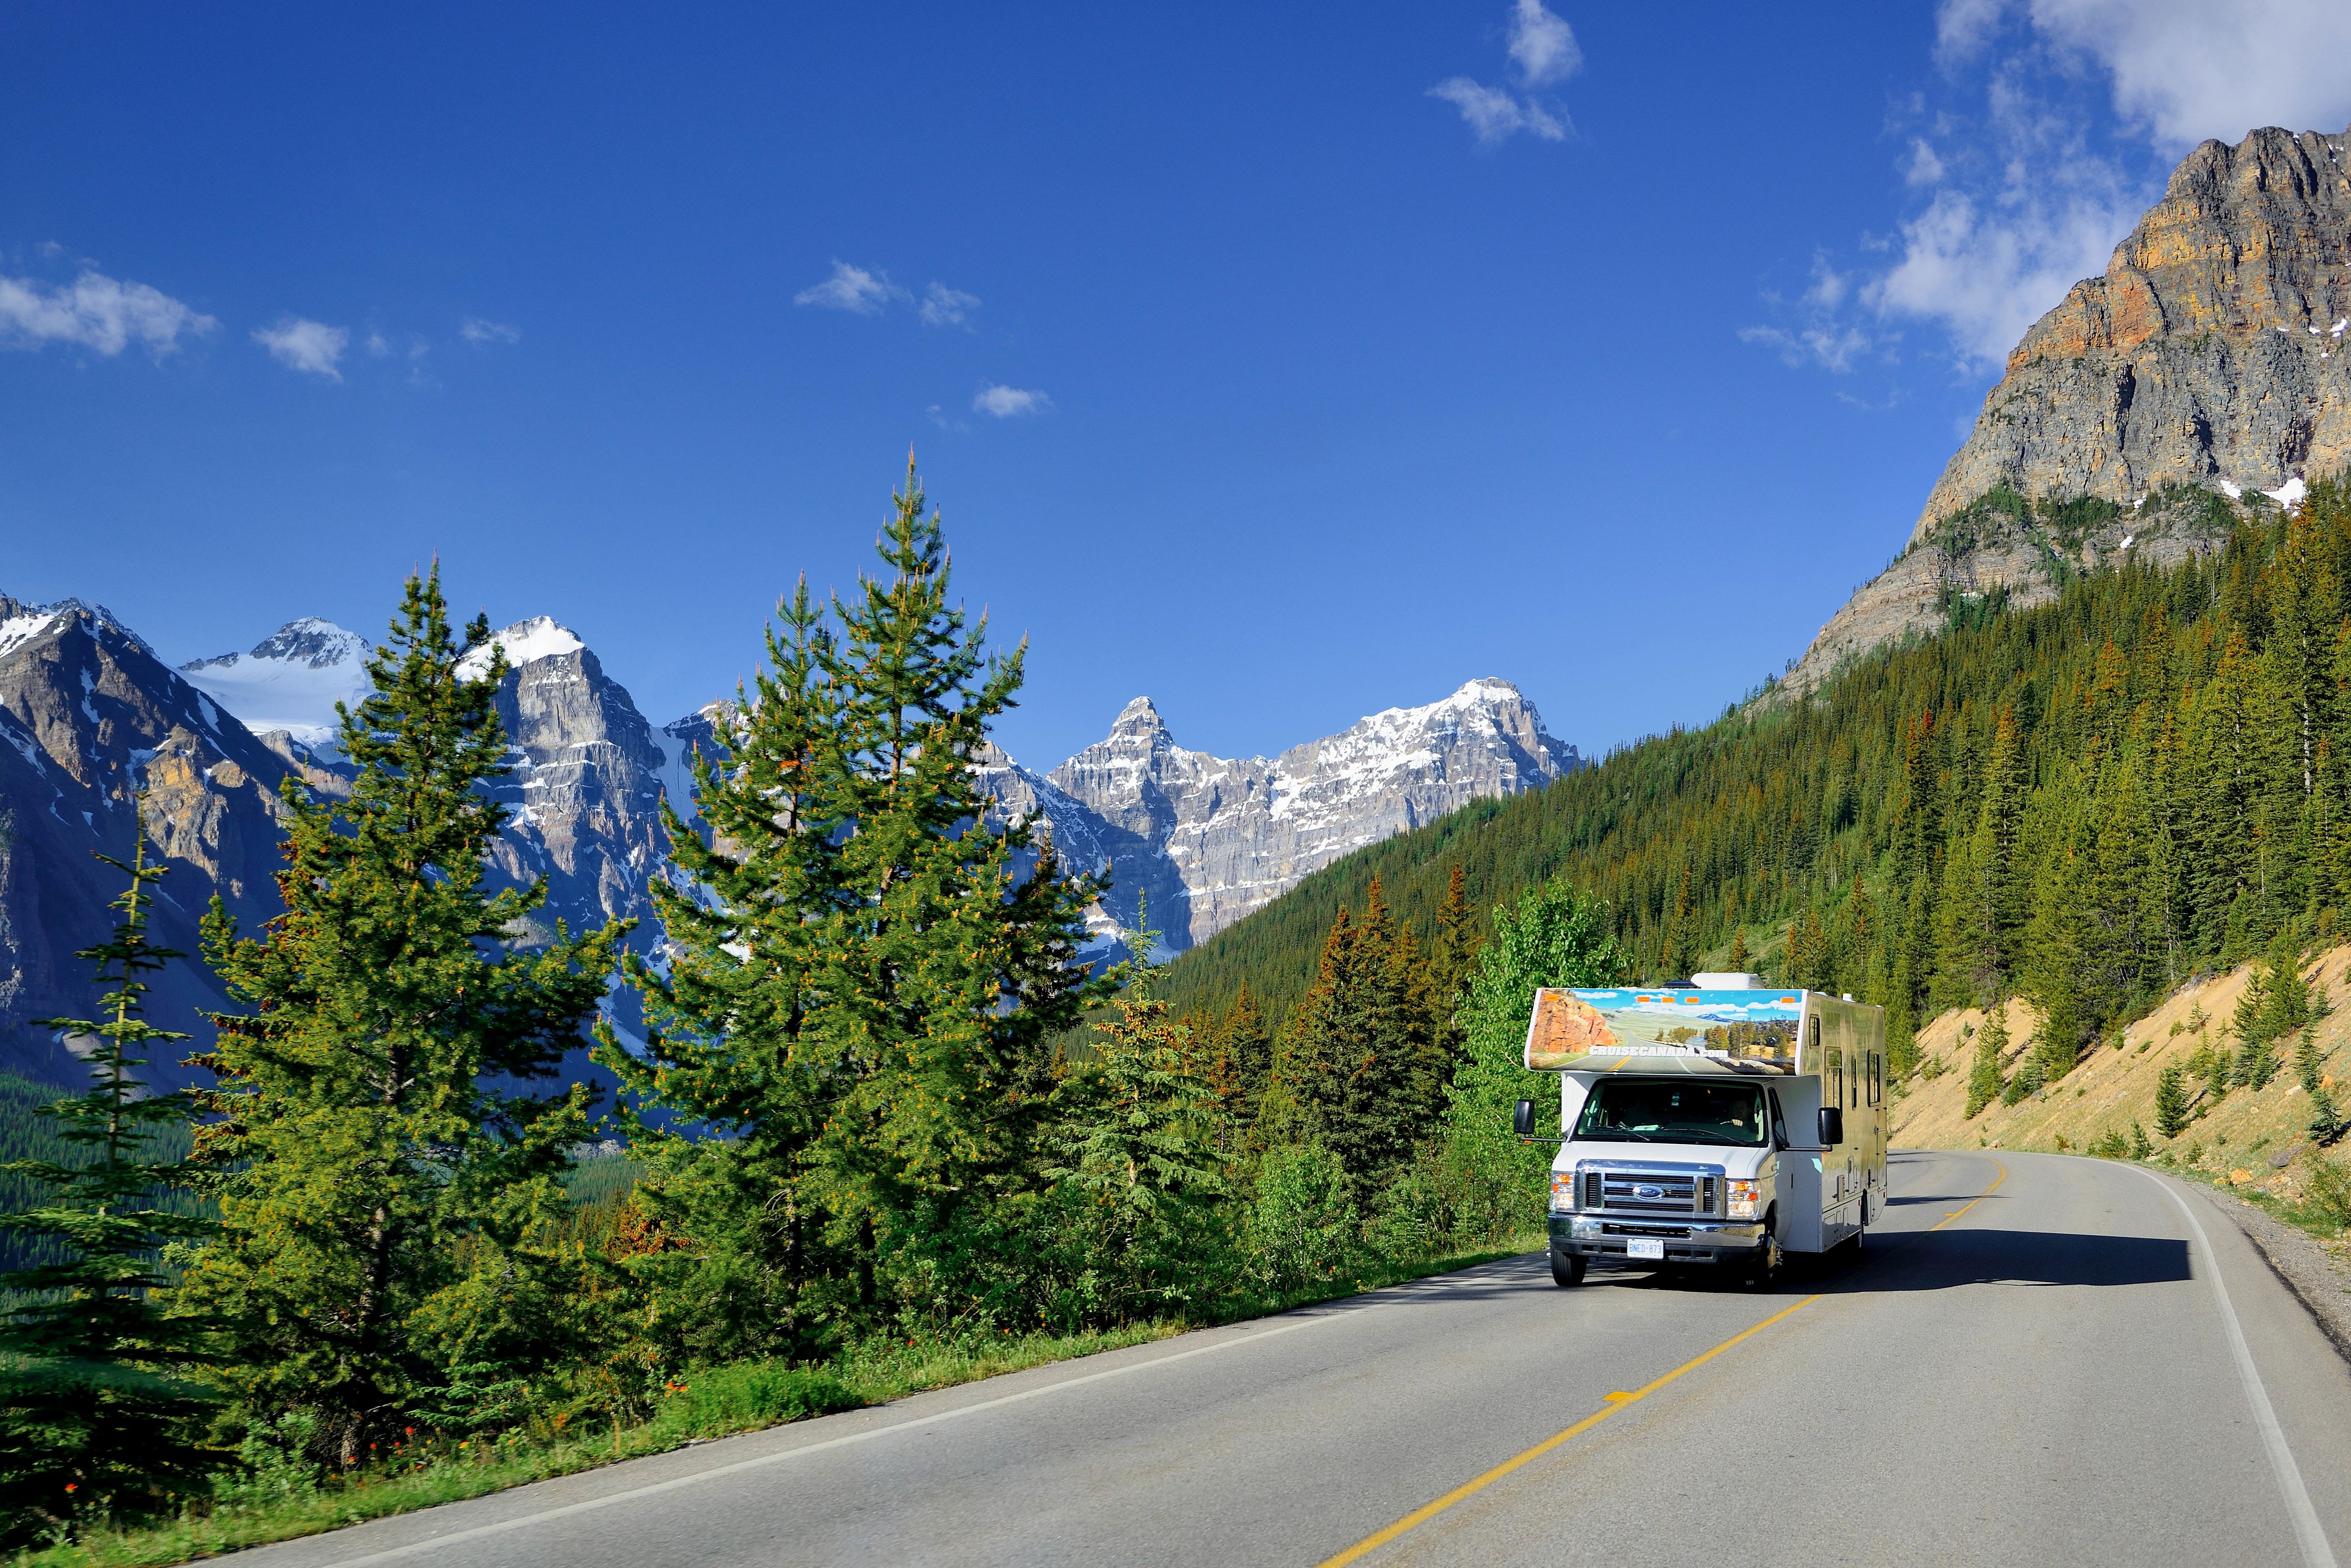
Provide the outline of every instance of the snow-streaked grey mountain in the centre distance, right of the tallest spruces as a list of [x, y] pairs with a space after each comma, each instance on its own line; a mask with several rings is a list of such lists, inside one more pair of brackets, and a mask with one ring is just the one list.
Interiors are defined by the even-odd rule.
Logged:
[[1114, 933], [1147, 898], [1168, 947], [1201, 943], [1352, 849], [1446, 811], [1516, 795], [1582, 766], [1519, 689], [1469, 682], [1425, 708], [1389, 708], [1274, 759], [1176, 745], [1150, 698], [1049, 776], [1004, 759], [990, 788], [1009, 811], [1041, 813], [1053, 846], [1114, 886], [1098, 929]]

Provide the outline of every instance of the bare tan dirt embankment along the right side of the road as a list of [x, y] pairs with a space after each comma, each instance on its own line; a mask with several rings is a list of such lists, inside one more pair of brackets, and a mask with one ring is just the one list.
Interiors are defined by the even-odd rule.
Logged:
[[[2252, 964], [2182, 987], [2154, 1013], [2125, 1030], [2123, 1044], [2099, 1046], [2074, 1072], [2017, 1105], [1994, 1100], [1972, 1121], [1968, 1110], [1968, 1067], [1975, 1063], [1975, 1032], [1984, 1027], [1980, 1009], [1944, 1013], [1918, 1032], [1918, 1077], [1893, 1107], [1893, 1143], [1933, 1150], [2057, 1150], [2083, 1152], [2109, 1133], [2130, 1140], [2137, 1124], [2146, 1140], [2175, 1164], [2224, 1175], [2238, 1187], [2259, 1185], [2283, 1199], [2302, 1197], [2302, 1171], [2311, 1147], [2306, 1124], [2311, 1098], [2295, 1074], [2295, 1041], [2280, 1039], [2278, 1074], [2266, 1088], [2231, 1088], [2215, 1100], [2203, 1079], [2191, 1077], [2189, 1126], [2177, 1138], [2156, 1135], [2156, 1079], [2168, 1063], [2186, 1063], [2198, 1048], [2236, 1051], [2238, 997], [2252, 980]], [[2316, 1025], [2323, 1074], [2337, 1105], [2351, 1100], [2351, 945], [2332, 947], [2304, 966], [2313, 994], [2325, 997], [2327, 1016]], [[2038, 1018], [2031, 1006], [2010, 1001], [2008, 1060], [2003, 1074], [2015, 1074]], [[2344, 1145], [2351, 1147], [2351, 1145]]]

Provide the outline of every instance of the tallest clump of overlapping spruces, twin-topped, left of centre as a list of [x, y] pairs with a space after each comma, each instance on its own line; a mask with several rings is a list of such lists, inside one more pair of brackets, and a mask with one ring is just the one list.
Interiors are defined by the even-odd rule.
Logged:
[[924, 508], [907, 458], [882, 574], [830, 614], [804, 588], [785, 607], [773, 672], [696, 771], [712, 839], [670, 823], [698, 893], [661, 896], [670, 973], [630, 966], [649, 1053], [602, 1048], [635, 1098], [738, 1145], [672, 1145], [656, 1182], [682, 1251], [766, 1293], [715, 1331], [736, 1340], [776, 1312], [797, 1314], [778, 1345], [832, 1307], [1034, 1312], [1051, 1041], [1107, 990], [1077, 959], [1103, 884], [980, 795], [1025, 644], [985, 651]]

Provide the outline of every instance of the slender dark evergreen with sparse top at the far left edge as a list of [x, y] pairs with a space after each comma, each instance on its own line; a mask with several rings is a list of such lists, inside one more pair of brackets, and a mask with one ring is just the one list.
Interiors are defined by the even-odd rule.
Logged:
[[181, 957], [148, 940], [150, 884], [167, 867], [148, 865], [143, 832], [129, 865], [99, 858], [129, 877], [113, 938], [75, 954], [96, 966], [101, 1016], [35, 1020], [85, 1041], [89, 1091], [40, 1112], [82, 1159], [7, 1166], [49, 1194], [0, 1215], [0, 1229], [52, 1237], [63, 1258], [0, 1274], [12, 1302], [0, 1309], [0, 1544], [143, 1512], [216, 1462], [202, 1446], [214, 1394], [190, 1378], [205, 1361], [202, 1324], [165, 1316], [155, 1298], [160, 1248], [207, 1229], [158, 1206], [188, 1168], [155, 1159], [153, 1145], [183, 1128], [193, 1105], [150, 1093], [141, 1077], [148, 1051], [188, 1039], [143, 1018], [148, 976]]

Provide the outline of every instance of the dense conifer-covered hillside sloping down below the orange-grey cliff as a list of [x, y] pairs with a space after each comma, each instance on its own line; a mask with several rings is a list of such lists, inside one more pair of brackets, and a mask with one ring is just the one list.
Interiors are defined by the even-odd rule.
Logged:
[[[1458, 865], [1481, 919], [1563, 877], [1643, 980], [1761, 966], [1883, 1001], [1904, 1044], [1933, 1011], [2029, 997], [2062, 1074], [2189, 973], [2332, 929], [2351, 882], [2344, 484], [2292, 515], [2146, 505], [2208, 508], [2212, 545], [2069, 574], [2029, 611], [1954, 597], [1944, 635], [1808, 698], [1763, 691], [1366, 849], [1185, 954], [1171, 1001], [1223, 1016], [1246, 983], [1279, 1020], [1373, 879], [1427, 940]], [[2062, 527], [2078, 503], [1980, 508]]]

